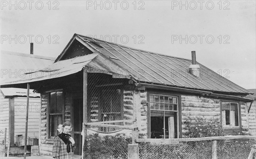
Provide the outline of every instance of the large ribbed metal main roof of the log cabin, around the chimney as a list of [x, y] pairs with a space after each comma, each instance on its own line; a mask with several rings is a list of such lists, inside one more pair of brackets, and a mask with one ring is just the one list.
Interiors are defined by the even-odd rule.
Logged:
[[200, 63], [198, 64], [201, 67], [201, 77], [191, 75], [188, 70], [192, 61], [185, 58], [134, 49], [83, 35], [78, 36], [107, 57], [117, 58], [118, 60], [113, 58], [111, 60], [127, 70], [139, 82], [226, 93], [251, 93]]

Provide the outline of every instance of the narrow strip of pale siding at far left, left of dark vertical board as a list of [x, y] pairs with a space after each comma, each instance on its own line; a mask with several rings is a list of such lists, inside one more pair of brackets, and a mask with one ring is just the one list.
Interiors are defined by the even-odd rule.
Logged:
[[4, 98], [0, 93], [0, 142], [4, 140], [5, 128], [7, 128], [6, 138], [9, 138], [9, 98]]

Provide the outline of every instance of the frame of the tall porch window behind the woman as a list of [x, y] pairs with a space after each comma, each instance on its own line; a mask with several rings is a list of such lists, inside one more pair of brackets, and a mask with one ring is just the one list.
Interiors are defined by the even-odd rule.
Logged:
[[[48, 96], [48, 107], [47, 107], [47, 138], [48, 139], [53, 139], [55, 138], [55, 136], [51, 136], [51, 116], [52, 115], [56, 115], [56, 114], [50, 114], [50, 100], [51, 100], [51, 93], [53, 92], [62, 92], [62, 113], [58, 113], [59, 115], [61, 114], [61, 122], [64, 123], [65, 122], [65, 92], [64, 90], [52, 90], [50, 92], [47, 92], [47, 96]], [[56, 127], [57, 129], [57, 127]]]

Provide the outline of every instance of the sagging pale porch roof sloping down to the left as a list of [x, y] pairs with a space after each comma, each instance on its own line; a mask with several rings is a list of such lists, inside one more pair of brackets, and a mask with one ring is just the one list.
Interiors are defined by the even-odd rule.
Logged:
[[122, 70], [119, 66], [113, 64], [113, 62], [105, 58], [104, 55], [99, 55], [99, 53], [95, 52], [81, 57], [57, 61], [44, 69], [26, 73], [22, 75], [22, 78], [4, 80], [1, 82], [1, 87], [60, 78], [79, 72], [84, 68], [87, 72], [110, 74], [113, 75], [114, 78], [130, 78], [129, 76], [118, 74], [118, 70]]

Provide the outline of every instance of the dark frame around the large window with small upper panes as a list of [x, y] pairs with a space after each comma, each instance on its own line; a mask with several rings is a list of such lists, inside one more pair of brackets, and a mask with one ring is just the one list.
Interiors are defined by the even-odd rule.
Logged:
[[[175, 92], [169, 92], [166, 90], [156, 90], [156, 89], [148, 89], [147, 90], [147, 101], [148, 101], [148, 107], [147, 107], [147, 138], [151, 139], [151, 111], [150, 111], [150, 95], [162, 95], [162, 96], [173, 96], [177, 98], [177, 111], [170, 111], [177, 113], [177, 139], [182, 137], [182, 122], [181, 122], [181, 94], [175, 93]], [[164, 110], [158, 110], [163, 111]]]

